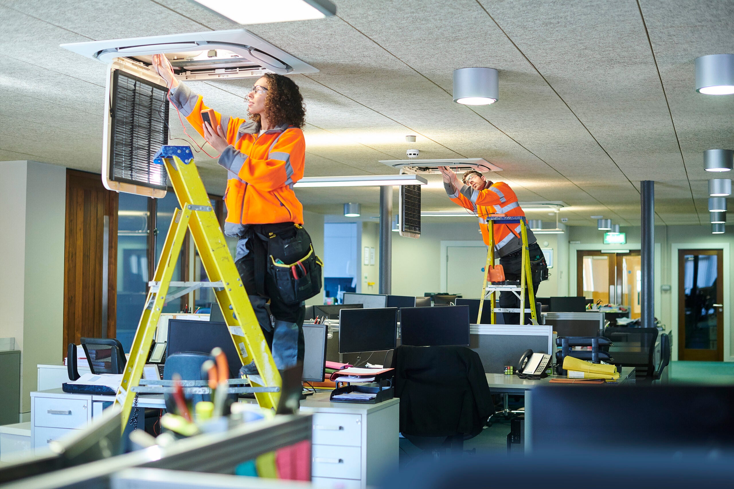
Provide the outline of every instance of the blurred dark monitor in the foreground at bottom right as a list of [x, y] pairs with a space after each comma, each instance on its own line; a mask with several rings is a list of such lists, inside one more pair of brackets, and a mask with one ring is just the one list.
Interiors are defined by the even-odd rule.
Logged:
[[539, 386], [530, 403], [533, 452], [734, 450], [732, 386]]

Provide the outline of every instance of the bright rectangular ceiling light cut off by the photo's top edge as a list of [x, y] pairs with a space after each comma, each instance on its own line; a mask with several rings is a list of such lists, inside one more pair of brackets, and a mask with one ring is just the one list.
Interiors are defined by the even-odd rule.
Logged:
[[330, 17], [336, 7], [329, 0], [194, 0], [230, 21], [271, 23], [310, 21]]

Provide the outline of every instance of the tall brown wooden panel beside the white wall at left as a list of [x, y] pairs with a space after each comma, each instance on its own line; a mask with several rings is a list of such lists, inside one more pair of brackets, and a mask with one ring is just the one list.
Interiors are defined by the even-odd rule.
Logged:
[[63, 356], [81, 337], [114, 338], [117, 193], [99, 174], [67, 170]]

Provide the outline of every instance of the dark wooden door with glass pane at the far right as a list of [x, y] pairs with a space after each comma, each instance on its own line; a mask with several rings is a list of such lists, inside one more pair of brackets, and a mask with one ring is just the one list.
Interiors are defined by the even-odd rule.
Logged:
[[724, 360], [724, 252], [678, 250], [678, 360]]

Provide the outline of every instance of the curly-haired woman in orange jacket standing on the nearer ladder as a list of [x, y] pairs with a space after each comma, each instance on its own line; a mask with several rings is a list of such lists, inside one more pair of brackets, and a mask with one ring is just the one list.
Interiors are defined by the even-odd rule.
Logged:
[[[305, 161], [305, 106], [298, 86], [272, 73], [258, 78], [245, 98], [248, 122], [208, 109], [200, 95], [176, 80], [164, 55], [153, 56], [153, 67], [167, 82], [175, 109], [219, 151], [219, 165], [228, 172], [224, 232], [239, 238], [237, 271], [277, 369], [294, 367], [303, 359], [302, 301], [316, 295], [302, 283], [313, 276], [321, 284], [320, 264], [303, 229], [303, 205], [293, 191]], [[214, 125], [204, 122], [203, 114], [213, 114]], [[265, 308], [268, 299], [274, 325]], [[241, 373], [258, 374], [254, 362]]]

